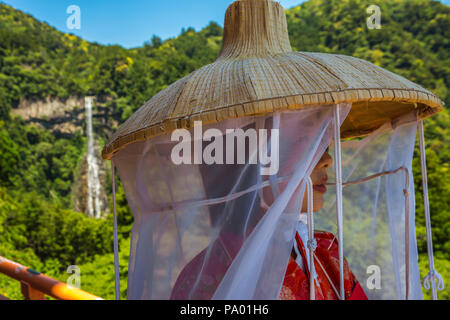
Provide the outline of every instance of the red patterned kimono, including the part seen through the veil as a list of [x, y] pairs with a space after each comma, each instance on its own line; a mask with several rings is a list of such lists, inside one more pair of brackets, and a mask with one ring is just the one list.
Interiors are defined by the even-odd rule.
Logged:
[[[315, 269], [317, 282], [316, 300], [337, 300], [339, 292], [339, 254], [337, 239], [328, 232], [315, 232], [317, 249], [315, 251]], [[300, 236], [296, 235], [297, 246], [303, 258], [303, 265], [308, 265], [306, 252]], [[207, 251], [198, 254], [183, 269], [172, 290], [174, 300], [209, 300], [222, 281], [232, 259], [237, 255], [242, 241], [228, 234], [221, 236], [213, 244], [210, 256], [204, 265]], [[198, 274], [202, 273], [197, 281]], [[280, 300], [309, 300], [309, 272], [304, 272], [297, 262], [290, 258]], [[193, 289], [193, 287], [195, 288]], [[363, 289], [356, 280], [346, 261], [344, 261], [344, 287], [347, 300], [367, 300]]]

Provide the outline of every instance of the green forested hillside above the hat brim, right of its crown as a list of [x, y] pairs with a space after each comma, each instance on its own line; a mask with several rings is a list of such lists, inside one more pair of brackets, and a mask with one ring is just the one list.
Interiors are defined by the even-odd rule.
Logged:
[[[381, 9], [369, 30], [366, 8]], [[450, 7], [430, 0], [312, 0], [288, 11], [298, 51], [342, 53], [371, 61], [434, 91], [450, 105]]]

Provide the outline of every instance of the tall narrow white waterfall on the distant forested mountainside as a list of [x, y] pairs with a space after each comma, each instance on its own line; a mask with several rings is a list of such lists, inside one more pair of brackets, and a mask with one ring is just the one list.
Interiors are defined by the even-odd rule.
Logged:
[[88, 214], [90, 217], [100, 218], [101, 216], [101, 205], [100, 205], [100, 179], [99, 179], [99, 167], [97, 162], [97, 157], [95, 155], [94, 147], [94, 130], [92, 126], [92, 98], [85, 98], [85, 108], [86, 108], [86, 131], [88, 137], [87, 145], [87, 182], [88, 182]]

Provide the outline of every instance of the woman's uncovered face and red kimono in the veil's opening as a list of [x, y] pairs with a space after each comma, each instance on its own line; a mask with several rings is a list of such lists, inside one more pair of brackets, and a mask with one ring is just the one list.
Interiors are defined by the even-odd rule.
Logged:
[[[324, 195], [327, 192], [327, 169], [333, 164], [328, 151], [324, 153], [311, 174], [314, 195], [314, 212], [318, 212], [324, 205]], [[303, 197], [306, 199], [306, 194]], [[303, 212], [307, 211], [307, 202], [303, 202]], [[329, 232], [316, 231], [314, 238], [317, 248], [314, 252], [315, 261], [315, 297], [316, 300], [337, 300], [339, 294], [339, 247], [336, 237]], [[305, 247], [308, 242], [306, 215], [302, 214], [297, 226], [289, 264], [286, 270], [280, 293], [281, 300], [309, 300], [309, 252]], [[361, 285], [351, 272], [344, 259], [344, 288], [346, 300], [367, 300]]]

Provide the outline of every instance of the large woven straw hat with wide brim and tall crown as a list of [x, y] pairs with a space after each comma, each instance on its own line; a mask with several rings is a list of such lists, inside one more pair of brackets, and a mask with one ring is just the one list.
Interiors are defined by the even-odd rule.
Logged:
[[[442, 109], [430, 91], [367, 61], [293, 52], [283, 7], [272, 0], [240, 0], [225, 16], [217, 60], [156, 94], [111, 137], [103, 157], [128, 144], [189, 128], [311, 105], [353, 103], [342, 137], [366, 135], [417, 109], [421, 118]], [[299, 128], [301, 130], [301, 128]]]

